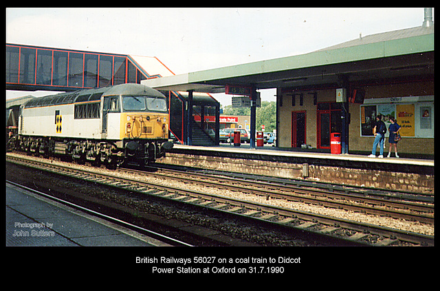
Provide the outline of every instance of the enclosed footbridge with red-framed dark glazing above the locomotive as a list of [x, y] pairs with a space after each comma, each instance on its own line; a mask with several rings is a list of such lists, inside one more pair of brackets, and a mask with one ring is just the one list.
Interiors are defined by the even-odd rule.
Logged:
[[6, 44], [6, 90], [76, 91], [161, 76], [149, 75], [135, 56]]

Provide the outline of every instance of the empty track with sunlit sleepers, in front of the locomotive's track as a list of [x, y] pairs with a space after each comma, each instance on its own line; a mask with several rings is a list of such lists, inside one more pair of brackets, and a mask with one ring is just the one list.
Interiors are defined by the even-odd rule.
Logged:
[[[366, 224], [362, 222], [355, 222], [352, 220], [334, 218], [330, 216], [323, 216], [316, 213], [309, 213], [306, 211], [298, 211], [285, 207], [276, 207], [273, 205], [252, 202], [250, 200], [242, 200], [237, 198], [230, 198], [226, 196], [209, 194], [202, 191], [195, 191], [189, 189], [190, 187], [175, 187], [171, 185], [163, 185], [158, 183], [149, 183], [142, 181], [140, 173], [137, 173], [136, 178], [129, 178], [120, 172], [98, 172], [94, 168], [91, 170], [78, 170], [72, 166], [62, 167], [61, 165], [54, 165], [50, 162], [36, 162], [32, 159], [19, 159], [17, 157], [7, 156], [7, 160], [13, 163], [26, 163], [28, 166], [38, 167], [41, 170], [80, 178], [94, 183], [100, 183], [110, 187], [118, 187], [122, 189], [129, 189], [138, 195], [148, 195], [160, 197], [162, 199], [173, 200], [180, 203], [190, 204], [205, 209], [212, 209], [221, 211], [223, 215], [234, 216], [241, 219], [257, 221], [260, 224], [270, 224], [271, 226], [285, 229], [292, 233], [300, 233], [319, 237], [319, 240], [332, 241], [338, 245], [364, 245], [364, 246], [388, 246], [388, 245], [434, 245], [434, 237], [431, 235], [423, 235], [420, 233], [411, 233], [408, 231], [400, 231], [399, 229], [391, 229], [384, 226], [377, 226], [374, 224]], [[30, 165], [33, 164], [33, 165]], [[142, 174], [142, 173], [141, 173]], [[143, 175], [150, 175], [151, 173], [144, 173]], [[156, 175], [159, 173], [155, 173]], [[163, 173], [162, 173], [163, 174]], [[184, 178], [182, 174], [174, 172], [177, 178]], [[206, 177], [205, 177], [206, 178]], [[162, 179], [170, 179], [169, 176], [162, 176]], [[201, 184], [202, 179], [194, 176], [186, 177], [186, 182]], [[213, 183], [212, 181], [203, 181], [206, 183]], [[217, 185], [210, 185], [210, 187], [219, 187], [218, 183], [224, 187], [230, 187], [230, 183], [225, 181], [217, 181]], [[246, 187], [251, 187], [246, 185]], [[262, 186], [259, 185], [261, 188]], [[276, 187], [278, 189], [278, 185]], [[261, 189], [250, 189], [250, 191], [262, 191]], [[240, 191], [243, 191], [241, 189]], [[264, 190], [269, 191], [269, 190]], [[291, 190], [289, 190], [291, 191]], [[275, 198], [274, 191], [270, 194], [267, 192], [259, 192], [259, 195]], [[269, 195], [269, 196], [267, 196]], [[277, 195], [285, 194], [278, 193]], [[328, 195], [328, 193], [326, 194]], [[311, 196], [307, 194], [305, 196]], [[297, 198], [295, 198], [297, 199]], [[304, 198], [303, 198], [304, 199]], [[311, 198], [307, 198], [311, 199]], [[316, 198], [315, 198], [316, 199]], [[340, 199], [340, 198], [338, 198]], [[319, 199], [322, 203], [323, 198]], [[318, 201], [318, 200], [315, 200]], [[401, 203], [401, 202], [400, 202]], [[335, 207], [334, 205], [332, 207]], [[386, 214], [390, 215], [390, 214]]]

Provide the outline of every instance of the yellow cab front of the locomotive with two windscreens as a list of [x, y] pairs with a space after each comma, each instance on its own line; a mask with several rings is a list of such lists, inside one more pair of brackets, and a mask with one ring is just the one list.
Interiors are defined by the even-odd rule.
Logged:
[[168, 141], [168, 106], [164, 96], [122, 95], [120, 140], [126, 162], [146, 165], [173, 148]]

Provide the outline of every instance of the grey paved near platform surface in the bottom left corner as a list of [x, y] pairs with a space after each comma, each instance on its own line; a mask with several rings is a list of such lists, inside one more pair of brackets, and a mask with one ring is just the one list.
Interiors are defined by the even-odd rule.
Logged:
[[168, 246], [6, 182], [6, 246]]

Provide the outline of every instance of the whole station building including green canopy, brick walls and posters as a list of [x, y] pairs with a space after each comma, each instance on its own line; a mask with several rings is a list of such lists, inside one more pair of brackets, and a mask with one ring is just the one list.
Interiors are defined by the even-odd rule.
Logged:
[[[144, 80], [155, 89], [248, 95], [276, 89], [278, 148], [328, 151], [339, 133], [342, 154], [371, 153], [376, 115], [402, 127], [399, 154], [434, 154], [434, 23], [360, 36], [298, 56]], [[233, 94], [232, 93], [232, 94]], [[251, 104], [252, 104], [251, 102]], [[255, 136], [251, 105], [251, 147]], [[386, 137], [388, 137], [387, 132]], [[308, 145], [304, 147], [303, 145]], [[388, 139], [385, 152], [388, 151]]]

